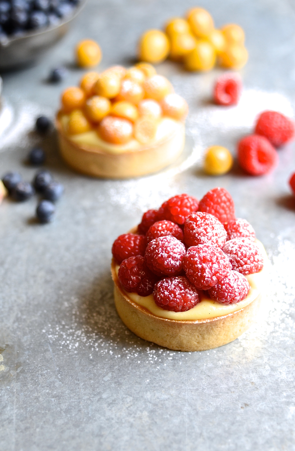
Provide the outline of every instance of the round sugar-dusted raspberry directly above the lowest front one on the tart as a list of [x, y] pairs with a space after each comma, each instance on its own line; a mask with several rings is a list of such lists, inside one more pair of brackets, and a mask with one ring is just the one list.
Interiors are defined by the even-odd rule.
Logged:
[[182, 271], [185, 246], [174, 236], [153, 239], [145, 251], [145, 261], [157, 276], [176, 276]]

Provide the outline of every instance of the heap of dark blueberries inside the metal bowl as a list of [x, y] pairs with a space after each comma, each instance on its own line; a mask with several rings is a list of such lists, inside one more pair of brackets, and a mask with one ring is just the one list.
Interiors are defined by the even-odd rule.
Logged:
[[80, 0], [0, 0], [0, 40], [21, 36], [58, 23], [73, 13]]

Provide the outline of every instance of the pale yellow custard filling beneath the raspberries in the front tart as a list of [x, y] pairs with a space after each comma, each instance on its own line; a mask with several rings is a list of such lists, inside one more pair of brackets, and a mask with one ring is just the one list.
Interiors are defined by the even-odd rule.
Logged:
[[[263, 255], [264, 267], [260, 272], [246, 276], [246, 279], [250, 285], [250, 291], [246, 299], [237, 302], [236, 304], [219, 304], [219, 302], [213, 301], [210, 298], [203, 297], [199, 304], [195, 305], [195, 307], [187, 310], [186, 312], [170, 312], [169, 310], [164, 310], [163, 308], [158, 307], [154, 301], [153, 295], [143, 297], [139, 296], [137, 293], [128, 293], [123, 288], [122, 290], [125, 292], [125, 295], [132, 299], [132, 301], [134, 301], [136, 304], [147, 308], [153, 315], [161, 318], [196, 321], [198, 319], [217, 318], [220, 316], [228, 315], [228, 313], [233, 313], [237, 310], [241, 310], [241, 308], [246, 307], [246, 305], [254, 301], [259, 293], [264, 290], [266, 284], [266, 275], [268, 272], [268, 256], [265, 252], [263, 244], [258, 240], [256, 240], [255, 242], [259, 246], [259, 249]], [[117, 275], [119, 267], [119, 265], [116, 265]]]

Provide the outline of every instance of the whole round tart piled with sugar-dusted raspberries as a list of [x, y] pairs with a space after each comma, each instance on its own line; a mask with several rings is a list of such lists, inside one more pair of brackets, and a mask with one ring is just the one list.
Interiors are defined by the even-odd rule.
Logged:
[[235, 340], [255, 321], [268, 262], [230, 194], [181, 194], [149, 210], [112, 247], [117, 312], [137, 336], [172, 350]]

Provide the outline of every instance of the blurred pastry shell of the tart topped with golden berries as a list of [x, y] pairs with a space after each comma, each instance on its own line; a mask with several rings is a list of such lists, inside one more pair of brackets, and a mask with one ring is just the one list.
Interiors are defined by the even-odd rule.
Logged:
[[113, 154], [105, 152], [103, 147], [74, 143], [64, 133], [58, 116], [56, 127], [63, 159], [74, 170], [93, 177], [126, 179], [157, 172], [179, 157], [185, 141], [184, 123], [179, 121], [169, 138], [143, 144], [136, 151]]

